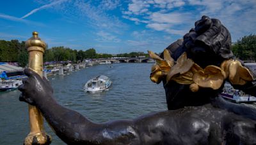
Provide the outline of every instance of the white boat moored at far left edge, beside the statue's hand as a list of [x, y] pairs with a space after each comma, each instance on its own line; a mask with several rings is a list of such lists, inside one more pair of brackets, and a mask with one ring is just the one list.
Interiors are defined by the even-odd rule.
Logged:
[[20, 85], [22, 85], [22, 80], [20, 79], [2, 80], [0, 82], [0, 92], [5, 92], [7, 90], [15, 90]]

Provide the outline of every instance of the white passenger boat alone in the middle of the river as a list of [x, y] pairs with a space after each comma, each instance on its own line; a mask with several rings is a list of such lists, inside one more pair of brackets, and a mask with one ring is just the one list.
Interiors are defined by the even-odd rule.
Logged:
[[107, 90], [111, 85], [112, 81], [108, 78], [108, 76], [97, 76], [96, 78], [90, 79], [84, 85], [84, 91], [86, 92], [102, 92]]

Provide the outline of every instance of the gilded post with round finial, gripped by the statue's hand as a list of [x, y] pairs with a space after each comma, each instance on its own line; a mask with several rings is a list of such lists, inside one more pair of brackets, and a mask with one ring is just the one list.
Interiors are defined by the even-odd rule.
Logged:
[[[25, 46], [29, 52], [29, 69], [32, 69], [42, 77], [45, 42], [38, 38], [38, 32], [33, 32], [33, 36], [26, 41]], [[35, 106], [29, 105], [28, 109], [30, 132], [24, 144], [50, 144], [51, 137], [45, 133], [42, 113]]]

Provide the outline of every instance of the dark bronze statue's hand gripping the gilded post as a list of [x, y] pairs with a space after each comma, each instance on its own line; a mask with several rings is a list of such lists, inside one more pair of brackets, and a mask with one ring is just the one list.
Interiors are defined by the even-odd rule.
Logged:
[[36, 101], [40, 99], [47, 99], [53, 93], [52, 87], [45, 78], [41, 78], [35, 71], [31, 69], [24, 69], [24, 73], [28, 78], [23, 79], [23, 85], [19, 86], [20, 94], [19, 100], [28, 102], [31, 105], [36, 105]]

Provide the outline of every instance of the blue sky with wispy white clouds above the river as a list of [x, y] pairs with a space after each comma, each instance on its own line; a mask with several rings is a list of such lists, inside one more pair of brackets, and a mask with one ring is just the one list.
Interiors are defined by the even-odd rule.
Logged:
[[232, 42], [256, 34], [255, 0], [2, 0], [0, 39], [37, 31], [49, 48], [159, 53], [203, 15], [221, 20]]

